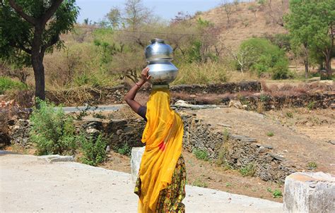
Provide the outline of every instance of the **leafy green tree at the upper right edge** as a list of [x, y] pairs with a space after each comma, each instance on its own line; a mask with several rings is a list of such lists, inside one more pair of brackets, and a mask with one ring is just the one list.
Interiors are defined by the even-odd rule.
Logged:
[[307, 53], [322, 53], [327, 78], [331, 78], [331, 57], [335, 51], [335, 0], [291, 0], [290, 13], [285, 20], [293, 47], [304, 47]]

